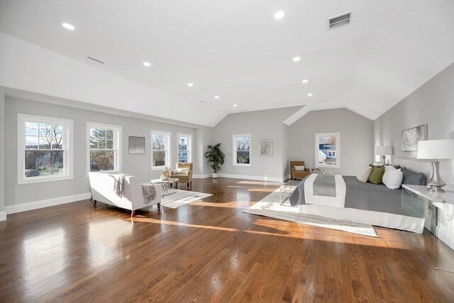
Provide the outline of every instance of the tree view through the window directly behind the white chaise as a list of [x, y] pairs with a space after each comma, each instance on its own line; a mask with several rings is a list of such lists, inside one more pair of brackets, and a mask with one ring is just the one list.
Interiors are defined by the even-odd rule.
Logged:
[[115, 170], [114, 131], [90, 128], [90, 171]]

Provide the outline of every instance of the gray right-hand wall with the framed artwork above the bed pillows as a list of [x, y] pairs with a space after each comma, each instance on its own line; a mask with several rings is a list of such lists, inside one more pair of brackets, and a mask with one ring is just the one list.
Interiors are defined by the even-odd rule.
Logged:
[[[375, 120], [375, 145], [394, 146], [393, 158], [416, 158], [416, 152], [401, 150], [401, 131], [421, 124], [428, 124], [429, 140], [454, 138], [454, 64]], [[453, 165], [440, 160], [446, 184], [454, 184]]]

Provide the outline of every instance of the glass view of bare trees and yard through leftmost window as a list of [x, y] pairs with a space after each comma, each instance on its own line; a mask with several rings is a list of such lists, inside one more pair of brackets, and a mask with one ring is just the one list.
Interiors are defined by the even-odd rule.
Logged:
[[62, 175], [63, 126], [52, 123], [26, 122], [25, 176]]

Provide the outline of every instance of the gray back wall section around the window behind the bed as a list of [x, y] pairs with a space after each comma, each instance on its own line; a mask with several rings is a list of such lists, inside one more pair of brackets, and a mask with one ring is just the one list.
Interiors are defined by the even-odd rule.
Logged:
[[371, 120], [348, 109], [311, 111], [290, 126], [289, 160], [304, 160], [307, 167], [314, 167], [315, 133], [341, 133], [341, 167], [325, 171], [357, 175], [373, 160], [373, 127]]

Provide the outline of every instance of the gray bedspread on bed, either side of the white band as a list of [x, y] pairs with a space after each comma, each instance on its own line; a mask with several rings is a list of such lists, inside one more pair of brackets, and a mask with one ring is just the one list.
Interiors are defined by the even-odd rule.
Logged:
[[[342, 176], [345, 181], [345, 207], [367, 211], [381, 211], [390, 214], [402, 214], [401, 190], [389, 189], [383, 184], [363, 183], [353, 176]], [[290, 195], [292, 206], [306, 204], [304, 200], [304, 182]]]

